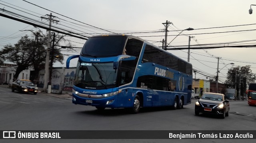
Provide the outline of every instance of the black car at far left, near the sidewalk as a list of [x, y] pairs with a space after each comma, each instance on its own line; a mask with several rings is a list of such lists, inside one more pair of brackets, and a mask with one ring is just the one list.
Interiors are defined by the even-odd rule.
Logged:
[[17, 90], [18, 92], [34, 93], [37, 94], [38, 87], [33, 82], [25, 79], [18, 79], [12, 83], [12, 92]]

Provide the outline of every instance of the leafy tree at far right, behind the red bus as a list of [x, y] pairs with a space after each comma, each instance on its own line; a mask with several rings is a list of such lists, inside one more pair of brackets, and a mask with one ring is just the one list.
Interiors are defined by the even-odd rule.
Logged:
[[226, 79], [226, 84], [236, 84], [236, 91], [241, 90], [241, 96], [244, 96], [247, 85], [250, 82], [255, 82], [256, 74], [252, 73], [250, 65], [244, 67], [232, 67], [228, 69], [228, 76]]

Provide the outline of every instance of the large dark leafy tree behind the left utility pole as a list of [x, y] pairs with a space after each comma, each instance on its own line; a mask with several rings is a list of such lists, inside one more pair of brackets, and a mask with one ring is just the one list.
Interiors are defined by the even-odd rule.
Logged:
[[[18, 75], [23, 70], [32, 66], [35, 69], [35, 79], [38, 80], [38, 73], [41, 69], [44, 69], [47, 49], [47, 35], [45, 36], [41, 31], [33, 32], [34, 36], [29, 38], [28, 35], [21, 37], [21, 39], [14, 46], [6, 45], [0, 51], [0, 59], [7, 60], [16, 64], [16, 72], [14, 74], [14, 80], [18, 78]], [[54, 45], [59, 45], [60, 41], [64, 41], [63, 36], [56, 39]], [[51, 41], [52, 43], [52, 41]], [[60, 53], [59, 49], [54, 49], [54, 53]], [[54, 54], [50, 53], [50, 54]], [[58, 58], [52, 58], [52, 63], [59, 61], [62, 63], [64, 60], [63, 55]], [[34, 79], [32, 79], [34, 80]]]

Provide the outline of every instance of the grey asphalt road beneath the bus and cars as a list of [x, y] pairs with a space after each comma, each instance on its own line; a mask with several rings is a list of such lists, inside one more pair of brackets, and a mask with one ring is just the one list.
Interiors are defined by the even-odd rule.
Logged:
[[[139, 114], [130, 114], [125, 109], [105, 109], [74, 105], [71, 100], [38, 93], [20, 94], [0, 87], [0, 130], [256, 130], [256, 107], [247, 101], [230, 101], [230, 116], [220, 119], [215, 116], [194, 115], [194, 103], [180, 110], [168, 107], [142, 108]], [[4, 139], [4, 142], [10, 140]], [[10, 142], [35, 142], [34, 139]], [[36, 142], [123, 142], [153, 143], [171, 142], [166, 139], [117, 139], [117, 140], [36, 140]], [[218, 139], [177, 140], [179, 142], [205, 142]], [[241, 140], [225, 139], [225, 142]], [[2, 142], [2, 141], [0, 141]], [[247, 142], [255, 142], [250, 139]]]

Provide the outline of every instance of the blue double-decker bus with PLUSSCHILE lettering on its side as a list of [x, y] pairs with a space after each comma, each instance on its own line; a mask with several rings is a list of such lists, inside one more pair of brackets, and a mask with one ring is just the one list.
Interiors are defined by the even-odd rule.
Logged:
[[90, 37], [78, 58], [72, 103], [105, 108], [191, 103], [192, 65], [132, 35]]

